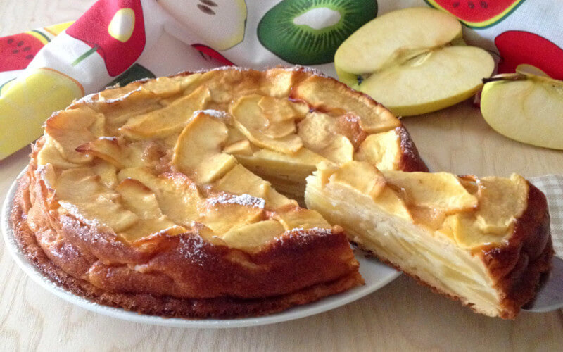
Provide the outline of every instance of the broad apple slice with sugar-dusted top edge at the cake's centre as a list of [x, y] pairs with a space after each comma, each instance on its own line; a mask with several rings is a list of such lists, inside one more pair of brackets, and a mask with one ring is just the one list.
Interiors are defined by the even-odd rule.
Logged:
[[221, 151], [225, 140], [227, 126], [205, 112], [198, 113], [178, 137], [172, 165], [197, 183], [213, 182], [236, 164], [234, 156]]

